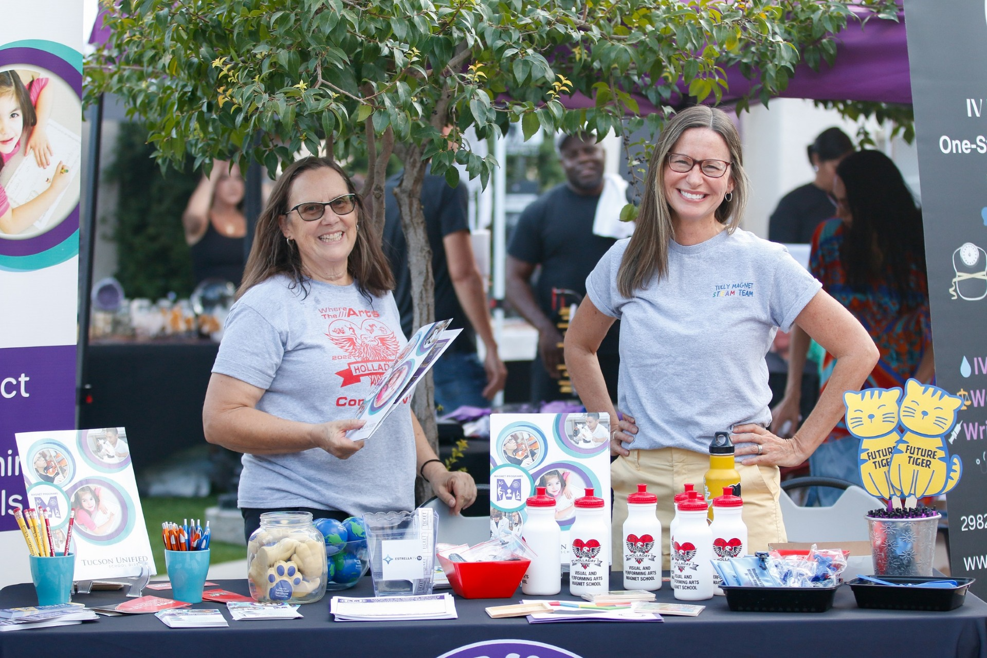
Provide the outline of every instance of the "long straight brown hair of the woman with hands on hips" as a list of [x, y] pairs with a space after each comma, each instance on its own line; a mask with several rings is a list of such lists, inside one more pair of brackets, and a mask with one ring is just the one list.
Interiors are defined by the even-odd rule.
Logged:
[[665, 198], [665, 159], [682, 133], [690, 128], [709, 128], [715, 131], [726, 142], [730, 152], [729, 176], [733, 180], [733, 195], [729, 201], [724, 199], [717, 208], [717, 221], [732, 233], [740, 224], [747, 208], [750, 184], [743, 171], [740, 135], [733, 122], [723, 110], [706, 106], [693, 106], [675, 114], [665, 124], [654, 145], [637, 225], [617, 272], [617, 290], [624, 297], [632, 297], [636, 290], [644, 288], [655, 275], [660, 280], [668, 273], [668, 243], [674, 239], [675, 230], [672, 226], [671, 207]]

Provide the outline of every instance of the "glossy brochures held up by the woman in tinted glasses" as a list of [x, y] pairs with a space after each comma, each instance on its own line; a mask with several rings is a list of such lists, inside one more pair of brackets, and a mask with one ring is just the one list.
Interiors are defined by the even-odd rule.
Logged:
[[358, 420], [366, 423], [347, 436], [353, 441], [369, 439], [394, 408], [410, 398], [422, 375], [428, 372], [435, 360], [442, 355], [462, 329], [446, 329], [451, 320], [441, 320], [425, 325], [415, 332], [405, 348], [391, 363], [391, 367], [370, 395], [359, 405]]

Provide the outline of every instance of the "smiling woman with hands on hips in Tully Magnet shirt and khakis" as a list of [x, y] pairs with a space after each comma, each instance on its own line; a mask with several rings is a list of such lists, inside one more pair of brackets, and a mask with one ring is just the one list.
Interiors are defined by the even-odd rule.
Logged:
[[[731, 431], [741, 458], [747, 549], [766, 550], [786, 539], [778, 467], [797, 466], [825, 438], [842, 415], [843, 391], [860, 386], [876, 350], [784, 247], [738, 228], [750, 189], [740, 136], [724, 112], [678, 112], [654, 145], [644, 192], [634, 235], [618, 241], [586, 279], [566, 333], [566, 365], [586, 410], [616, 418], [596, 352], [621, 321], [623, 418], [611, 420], [610, 439], [614, 566], [624, 552], [627, 495], [649, 484], [658, 519], [669, 524], [673, 494], [684, 482], [702, 481], [721, 430]], [[839, 362], [833, 390], [786, 440], [767, 429], [765, 353], [776, 331], [794, 324]]]

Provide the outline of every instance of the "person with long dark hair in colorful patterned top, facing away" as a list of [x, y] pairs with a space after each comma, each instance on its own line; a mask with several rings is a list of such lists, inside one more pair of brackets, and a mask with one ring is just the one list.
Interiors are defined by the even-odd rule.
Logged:
[[[935, 375], [922, 211], [901, 172], [879, 151], [847, 156], [833, 182], [836, 219], [823, 222], [812, 237], [809, 270], [822, 288], [843, 304], [871, 334], [880, 360], [862, 389], [904, 387], [909, 377], [927, 383]], [[798, 428], [798, 404], [808, 335], [792, 333], [789, 386], [773, 409], [772, 429], [791, 422]], [[822, 389], [836, 359], [822, 361]], [[860, 484], [858, 440], [844, 421], [833, 428], [809, 458], [812, 475]], [[819, 487], [809, 503], [832, 505], [841, 491]]]

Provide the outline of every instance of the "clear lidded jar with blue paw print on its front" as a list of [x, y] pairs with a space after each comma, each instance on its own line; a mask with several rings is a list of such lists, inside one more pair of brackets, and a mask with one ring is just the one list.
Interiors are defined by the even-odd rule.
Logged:
[[247, 543], [250, 594], [262, 603], [315, 603], [326, 595], [326, 543], [309, 512], [266, 512]]

